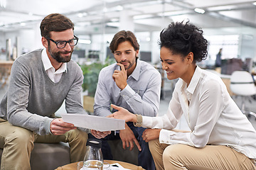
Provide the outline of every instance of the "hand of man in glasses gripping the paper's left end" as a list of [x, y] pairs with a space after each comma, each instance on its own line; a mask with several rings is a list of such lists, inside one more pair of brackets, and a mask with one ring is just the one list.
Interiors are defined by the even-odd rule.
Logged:
[[72, 123], [65, 123], [62, 118], [53, 119], [50, 123], [50, 132], [53, 135], [63, 135], [65, 132], [74, 129], [76, 127]]

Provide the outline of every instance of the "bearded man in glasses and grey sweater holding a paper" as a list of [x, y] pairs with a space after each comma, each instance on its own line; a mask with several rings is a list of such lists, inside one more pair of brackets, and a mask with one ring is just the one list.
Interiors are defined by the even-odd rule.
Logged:
[[[0, 105], [1, 169], [31, 169], [34, 142], [68, 142], [71, 162], [83, 160], [87, 133], [53, 115], [65, 100], [67, 113], [82, 108], [82, 70], [71, 59], [78, 43], [69, 18], [52, 13], [41, 22], [45, 49], [18, 57], [11, 69], [9, 89]], [[110, 132], [91, 130], [95, 137]], [[42, 165], [43, 166], [43, 165]]]

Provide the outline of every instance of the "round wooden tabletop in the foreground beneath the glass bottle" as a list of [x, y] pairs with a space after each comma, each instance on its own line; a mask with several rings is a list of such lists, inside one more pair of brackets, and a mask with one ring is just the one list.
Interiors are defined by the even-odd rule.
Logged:
[[[119, 161], [113, 161], [113, 160], [104, 160], [104, 162], [107, 162], [109, 164], [114, 164], [118, 163], [121, 166], [123, 166], [125, 169], [132, 169], [132, 170], [143, 170], [142, 166], [137, 166], [134, 164], [129, 164], [127, 162], [119, 162]], [[64, 166], [60, 166], [55, 170], [77, 170], [78, 169], [78, 162], [72, 163], [72, 164], [67, 164]]]

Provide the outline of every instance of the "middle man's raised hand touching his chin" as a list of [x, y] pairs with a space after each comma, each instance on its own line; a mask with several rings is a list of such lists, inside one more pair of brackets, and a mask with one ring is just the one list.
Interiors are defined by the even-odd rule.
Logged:
[[119, 89], [124, 89], [127, 86], [127, 70], [124, 68], [123, 64], [117, 63], [121, 67], [121, 70], [114, 70], [112, 78], [119, 87]]

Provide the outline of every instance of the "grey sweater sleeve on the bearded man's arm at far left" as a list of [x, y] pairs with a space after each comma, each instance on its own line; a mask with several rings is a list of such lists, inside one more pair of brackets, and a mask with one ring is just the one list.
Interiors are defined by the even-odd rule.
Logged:
[[6, 118], [12, 125], [34, 131], [39, 135], [50, 133], [52, 118], [30, 113], [28, 107], [31, 87], [31, 70], [16, 60], [11, 69], [9, 89], [7, 91]]

